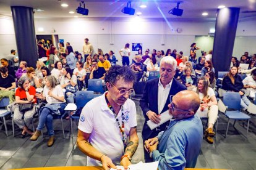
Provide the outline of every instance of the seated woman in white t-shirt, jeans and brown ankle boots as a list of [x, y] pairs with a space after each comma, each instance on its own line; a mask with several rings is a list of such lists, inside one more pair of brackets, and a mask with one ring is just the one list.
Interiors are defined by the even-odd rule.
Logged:
[[61, 86], [57, 84], [58, 82], [54, 76], [48, 76], [43, 94], [35, 94], [38, 99], [46, 100], [47, 103], [45, 107], [40, 108], [38, 126], [30, 140], [37, 140], [41, 135], [43, 127], [46, 125], [49, 134], [48, 147], [54, 144], [53, 117], [61, 116], [65, 112], [64, 108], [66, 107], [64, 93]]

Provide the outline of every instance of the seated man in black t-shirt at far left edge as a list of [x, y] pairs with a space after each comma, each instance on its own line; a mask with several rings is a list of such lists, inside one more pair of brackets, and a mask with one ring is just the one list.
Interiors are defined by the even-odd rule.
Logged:
[[9, 97], [10, 102], [14, 102], [14, 89], [16, 87], [15, 79], [9, 75], [6, 67], [0, 67], [0, 101], [4, 97]]

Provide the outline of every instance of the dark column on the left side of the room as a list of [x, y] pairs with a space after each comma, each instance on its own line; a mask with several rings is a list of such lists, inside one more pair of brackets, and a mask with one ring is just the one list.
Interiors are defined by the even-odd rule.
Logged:
[[19, 60], [34, 67], [38, 60], [32, 7], [11, 6]]

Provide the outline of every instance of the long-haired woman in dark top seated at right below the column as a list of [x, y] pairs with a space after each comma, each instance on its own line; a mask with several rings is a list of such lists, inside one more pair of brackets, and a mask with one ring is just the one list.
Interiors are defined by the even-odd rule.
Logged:
[[250, 100], [244, 95], [244, 84], [242, 78], [237, 75], [237, 67], [231, 67], [229, 73], [227, 73], [222, 81], [222, 89], [225, 91], [239, 92], [241, 95], [241, 107], [247, 111]]

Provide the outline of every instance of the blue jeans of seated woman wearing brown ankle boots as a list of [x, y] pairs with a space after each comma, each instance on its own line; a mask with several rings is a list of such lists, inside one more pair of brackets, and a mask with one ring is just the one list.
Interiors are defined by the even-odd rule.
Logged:
[[[62, 115], [64, 113], [65, 107], [66, 107], [66, 103], [61, 103], [61, 107], [59, 108], [59, 111], [61, 111]], [[51, 110], [47, 107], [43, 108], [43, 110], [41, 111], [41, 114], [39, 115], [39, 122], [38, 122], [38, 126], [37, 126], [36, 130], [42, 131], [45, 124], [46, 124], [49, 136], [54, 136], [53, 114], [52, 114]]]

